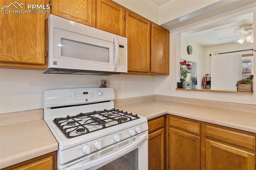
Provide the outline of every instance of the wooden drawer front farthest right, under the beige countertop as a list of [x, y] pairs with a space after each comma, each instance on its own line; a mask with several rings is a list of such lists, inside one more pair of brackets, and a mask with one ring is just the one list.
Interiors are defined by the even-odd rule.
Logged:
[[255, 136], [206, 125], [206, 136], [255, 151]]

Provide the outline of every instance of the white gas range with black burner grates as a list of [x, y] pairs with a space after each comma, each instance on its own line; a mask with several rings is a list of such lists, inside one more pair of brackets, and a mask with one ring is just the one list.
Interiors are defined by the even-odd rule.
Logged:
[[58, 141], [58, 169], [148, 168], [147, 119], [114, 108], [111, 88], [44, 93], [44, 121]]

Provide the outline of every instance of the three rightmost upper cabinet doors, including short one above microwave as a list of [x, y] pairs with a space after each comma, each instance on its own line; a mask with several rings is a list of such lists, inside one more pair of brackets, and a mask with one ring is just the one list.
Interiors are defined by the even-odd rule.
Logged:
[[96, 1], [96, 28], [128, 38], [128, 73], [169, 75], [169, 31], [110, 0]]

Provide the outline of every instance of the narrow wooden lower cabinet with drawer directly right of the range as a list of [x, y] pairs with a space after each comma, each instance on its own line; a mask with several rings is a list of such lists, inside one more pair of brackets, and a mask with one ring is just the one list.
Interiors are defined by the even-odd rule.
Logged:
[[165, 169], [165, 116], [148, 121], [148, 169]]

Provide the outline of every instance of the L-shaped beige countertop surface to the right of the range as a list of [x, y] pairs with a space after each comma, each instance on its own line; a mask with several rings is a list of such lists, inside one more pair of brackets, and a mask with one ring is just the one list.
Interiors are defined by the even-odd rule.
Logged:
[[168, 113], [256, 133], [256, 113], [162, 100], [145, 101], [128, 105], [117, 105], [115, 107], [117, 109], [122, 109], [124, 111], [145, 116], [148, 120]]

